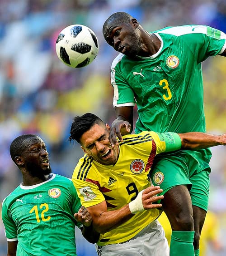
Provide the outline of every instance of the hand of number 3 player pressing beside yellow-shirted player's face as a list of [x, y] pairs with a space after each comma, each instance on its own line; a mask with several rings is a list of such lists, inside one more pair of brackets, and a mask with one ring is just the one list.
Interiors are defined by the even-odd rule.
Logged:
[[123, 141], [122, 136], [129, 134], [130, 130], [131, 130], [131, 124], [129, 122], [115, 119], [112, 123], [111, 129], [110, 129], [110, 135], [109, 135], [109, 141], [112, 147], [118, 144], [117, 137], [120, 141]]

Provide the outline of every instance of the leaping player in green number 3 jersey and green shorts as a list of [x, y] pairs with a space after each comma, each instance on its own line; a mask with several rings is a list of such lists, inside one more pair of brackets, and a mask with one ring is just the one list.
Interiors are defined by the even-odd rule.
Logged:
[[[217, 54], [226, 56], [226, 34], [203, 25], [149, 33], [131, 15], [118, 12], [105, 21], [103, 35], [120, 52], [111, 68], [116, 111], [112, 144], [117, 143], [116, 135], [122, 140], [128, 133], [121, 135], [122, 126], [132, 132], [135, 103], [135, 133], [206, 131], [201, 62]], [[171, 256], [198, 256], [208, 207], [210, 158], [211, 151], [202, 149], [162, 154], [155, 159], [151, 178], [163, 189], [161, 203], [173, 230]], [[164, 178], [158, 182], [155, 177], [160, 172]]]

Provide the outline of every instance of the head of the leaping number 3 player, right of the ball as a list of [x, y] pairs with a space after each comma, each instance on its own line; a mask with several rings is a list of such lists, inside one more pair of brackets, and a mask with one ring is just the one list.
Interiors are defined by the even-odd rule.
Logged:
[[137, 19], [126, 12], [116, 12], [104, 22], [103, 36], [116, 51], [133, 58], [139, 55], [141, 29]]

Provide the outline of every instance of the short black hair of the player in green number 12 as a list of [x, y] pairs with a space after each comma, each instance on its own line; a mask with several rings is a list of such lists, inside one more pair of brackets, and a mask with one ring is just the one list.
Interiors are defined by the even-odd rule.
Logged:
[[23, 134], [15, 138], [9, 148], [10, 156], [12, 160], [15, 162], [15, 157], [20, 156], [24, 150], [28, 147], [28, 144], [25, 143], [25, 140], [28, 138], [38, 137], [34, 134]]

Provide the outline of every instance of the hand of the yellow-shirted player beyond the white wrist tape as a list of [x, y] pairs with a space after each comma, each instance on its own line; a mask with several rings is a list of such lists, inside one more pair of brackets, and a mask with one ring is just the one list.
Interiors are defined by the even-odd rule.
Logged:
[[162, 196], [157, 196], [157, 194], [160, 194], [162, 192], [162, 189], [159, 186], [151, 186], [147, 187], [142, 194], [142, 203], [143, 207], [145, 209], [153, 209], [153, 208], [160, 208], [162, 207], [162, 204], [152, 204], [153, 202], [157, 202], [158, 200], [163, 199]]

